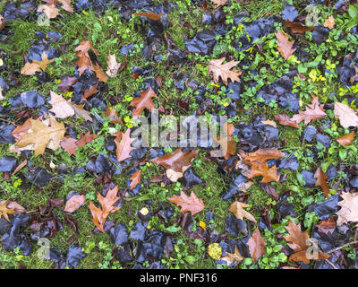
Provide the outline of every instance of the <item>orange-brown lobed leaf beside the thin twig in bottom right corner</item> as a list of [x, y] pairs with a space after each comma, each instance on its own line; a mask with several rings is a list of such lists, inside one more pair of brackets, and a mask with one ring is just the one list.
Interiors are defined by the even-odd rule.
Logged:
[[307, 231], [301, 230], [301, 223], [294, 224], [294, 222], [291, 221], [285, 228], [288, 235], [284, 236], [284, 239], [288, 242], [288, 246], [294, 250], [294, 254], [288, 258], [289, 261], [302, 261], [305, 264], [310, 264], [310, 259], [320, 261], [330, 257], [321, 252], [318, 253], [317, 257], [311, 257], [311, 255], [309, 258], [307, 257], [307, 255], [309, 255], [308, 249], [311, 247], [311, 245], [309, 245], [310, 241], [308, 241], [310, 236]]

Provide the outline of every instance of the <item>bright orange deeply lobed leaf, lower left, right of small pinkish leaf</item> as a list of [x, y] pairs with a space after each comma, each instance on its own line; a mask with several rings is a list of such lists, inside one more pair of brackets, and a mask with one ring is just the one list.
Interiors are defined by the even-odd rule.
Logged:
[[110, 213], [115, 213], [115, 211], [118, 211], [121, 208], [114, 206], [114, 204], [121, 199], [121, 197], [117, 196], [117, 193], [118, 186], [115, 186], [113, 189], [109, 189], [105, 197], [98, 193], [97, 198], [101, 207], [97, 207], [92, 203], [92, 201], [90, 201], [90, 213], [92, 213], [93, 216], [92, 222], [96, 225], [98, 230], [102, 232], [105, 232], [104, 226], [107, 216]]

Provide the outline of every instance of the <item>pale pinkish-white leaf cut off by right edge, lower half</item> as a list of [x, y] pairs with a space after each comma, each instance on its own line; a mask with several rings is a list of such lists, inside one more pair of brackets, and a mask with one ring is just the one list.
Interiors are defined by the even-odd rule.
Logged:
[[358, 193], [350, 194], [343, 191], [341, 197], [343, 200], [338, 202], [341, 209], [336, 213], [338, 215], [337, 224], [358, 222]]

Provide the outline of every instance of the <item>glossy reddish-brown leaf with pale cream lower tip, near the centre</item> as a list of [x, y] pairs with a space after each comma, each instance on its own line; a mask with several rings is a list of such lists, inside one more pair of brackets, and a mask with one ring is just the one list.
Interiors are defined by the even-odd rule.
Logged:
[[181, 148], [175, 150], [173, 153], [166, 153], [164, 156], [152, 159], [150, 161], [164, 166], [166, 170], [166, 176], [173, 182], [177, 181], [178, 178], [183, 177], [185, 170], [188, 170], [195, 156], [199, 150], [185, 152]]

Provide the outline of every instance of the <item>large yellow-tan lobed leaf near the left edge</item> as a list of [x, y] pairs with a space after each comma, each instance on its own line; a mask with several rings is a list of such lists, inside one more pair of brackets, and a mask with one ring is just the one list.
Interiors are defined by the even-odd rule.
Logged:
[[16, 147], [35, 151], [35, 157], [43, 154], [46, 148], [55, 151], [60, 147], [66, 130], [64, 123], [58, 123], [55, 117], [50, 116], [48, 125], [39, 119], [30, 119], [30, 124], [30, 130], [21, 134], [21, 140], [15, 143]]

